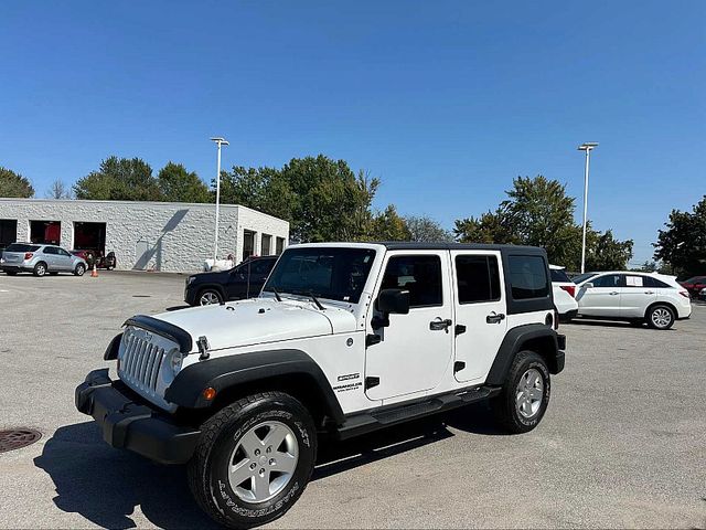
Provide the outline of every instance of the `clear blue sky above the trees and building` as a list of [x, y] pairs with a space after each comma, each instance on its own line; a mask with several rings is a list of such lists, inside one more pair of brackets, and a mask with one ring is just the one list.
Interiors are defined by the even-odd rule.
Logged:
[[[215, 173], [323, 152], [451, 227], [516, 176], [635, 241], [706, 193], [706, 2], [0, 4], [0, 165], [43, 197], [109, 155]], [[1, 212], [0, 212], [1, 213]]]

